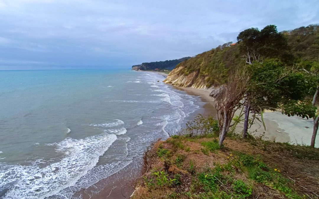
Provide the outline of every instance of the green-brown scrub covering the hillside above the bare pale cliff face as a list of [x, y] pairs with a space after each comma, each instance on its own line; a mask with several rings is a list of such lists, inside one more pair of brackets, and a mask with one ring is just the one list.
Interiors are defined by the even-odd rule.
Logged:
[[[318, 61], [319, 25], [309, 25], [291, 31], [283, 31], [278, 34], [267, 32], [267, 27], [271, 26], [273, 25], [266, 26], [261, 31], [251, 28], [251, 32], [255, 30], [256, 34], [260, 34], [260, 40], [256, 43], [256, 49], [258, 48], [260, 52], [265, 52], [262, 54], [263, 58], [280, 58], [285, 63], [297, 63], [300, 60]], [[271, 28], [269, 29], [271, 30]], [[276, 36], [268, 38], [265, 36], [267, 34]], [[277, 46], [267, 45], [267, 40], [274, 38], [280, 40], [280, 42], [277, 42]], [[286, 45], [283, 45], [283, 42], [286, 42]], [[236, 68], [246, 64], [246, 57], [242, 52], [244, 46], [241, 45], [241, 42], [235, 45], [230, 44], [231, 42], [226, 43], [183, 61], [176, 66], [176, 69], [180, 68], [178, 74], [174, 74], [174, 70], [171, 74], [187, 76], [196, 72], [198, 75], [195, 78], [203, 80], [206, 87], [219, 86], [226, 83], [228, 76], [234, 74]], [[274, 50], [271, 51], [271, 49]]]

